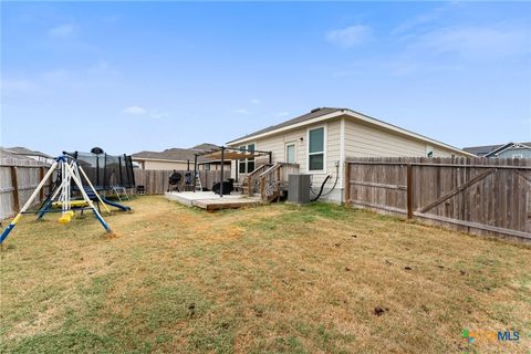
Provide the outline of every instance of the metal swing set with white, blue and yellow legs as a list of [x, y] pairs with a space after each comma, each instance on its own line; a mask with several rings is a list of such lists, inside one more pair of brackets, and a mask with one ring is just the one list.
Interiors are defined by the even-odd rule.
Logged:
[[[55, 179], [55, 184], [53, 185], [49, 197], [44, 200], [44, 202], [41, 205], [39, 210], [37, 210], [37, 212], [29, 211], [28, 209], [32, 205], [33, 200], [37, 198], [37, 196], [39, 196], [40, 190], [44, 188], [46, 180], [52, 177], [54, 171], [56, 171], [58, 178]], [[82, 177], [86, 181], [86, 187], [83, 187]], [[80, 191], [83, 198], [82, 200], [72, 199], [72, 191], [74, 190], [74, 185], [72, 184], [72, 181], [74, 183], [76, 189]], [[105, 202], [97, 194], [96, 189], [92, 185], [91, 180], [86, 176], [77, 159], [71, 154], [63, 152], [63, 155], [54, 158], [54, 163], [52, 164], [39, 186], [35, 188], [33, 194], [30, 196], [30, 199], [28, 199], [19, 214], [3, 230], [2, 235], [0, 236], [0, 244], [3, 242], [3, 240], [6, 240], [6, 238], [9, 236], [11, 230], [14, 228], [17, 222], [22, 218], [24, 214], [37, 214], [38, 219], [41, 219], [46, 212], [61, 212], [59, 222], [61, 225], [66, 225], [75, 215], [74, 210], [81, 210], [82, 212], [83, 210], [92, 210], [92, 212], [103, 226], [105, 231], [112, 233], [113, 231], [111, 230], [111, 227], [105, 222], [98, 209], [94, 206], [93, 200], [88, 197], [88, 194], [91, 194], [91, 196], [94, 196], [94, 199], [97, 199], [97, 201], [105, 208], [107, 212], [111, 212], [106, 207]]]

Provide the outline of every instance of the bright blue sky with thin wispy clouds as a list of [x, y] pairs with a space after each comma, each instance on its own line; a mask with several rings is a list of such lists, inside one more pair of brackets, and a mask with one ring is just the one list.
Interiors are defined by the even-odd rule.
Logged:
[[531, 3], [2, 2], [0, 145], [217, 144], [319, 106], [531, 140]]

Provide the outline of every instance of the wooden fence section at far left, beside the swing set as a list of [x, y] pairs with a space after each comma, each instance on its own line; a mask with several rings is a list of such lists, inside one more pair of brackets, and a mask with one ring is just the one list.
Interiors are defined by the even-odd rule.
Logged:
[[[31, 194], [48, 169], [48, 165], [38, 162], [35, 164], [20, 164], [4, 159], [0, 163], [0, 220], [19, 212], [20, 208], [30, 199]], [[50, 185], [46, 184], [41, 189], [34, 206], [44, 200], [50, 188]]]

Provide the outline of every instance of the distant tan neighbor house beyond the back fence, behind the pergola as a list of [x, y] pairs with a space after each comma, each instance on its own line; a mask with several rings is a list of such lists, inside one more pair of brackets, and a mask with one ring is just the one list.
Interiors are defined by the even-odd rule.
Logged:
[[[140, 152], [133, 154], [133, 163], [136, 163], [140, 169], [158, 170], [194, 170], [196, 154], [201, 154], [218, 148], [215, 144], [204, 143], [191, 148], [168, 148], [164, 152]], [[198, 156], [198, 169], [218, 169], [220, 160], [208, 160]], [[225, 162], [226, 168], [230, 169], [230, 162]]]

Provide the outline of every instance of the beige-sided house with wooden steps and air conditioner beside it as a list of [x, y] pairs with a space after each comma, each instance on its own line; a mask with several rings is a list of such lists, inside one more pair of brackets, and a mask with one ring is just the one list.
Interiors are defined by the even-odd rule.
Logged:
[[[344, 163], [348, 157], [450, 157], [472, 154], [348, 108], [316, 108], [293, 119], [227, 143], [228, 147], [272, 153], [272, 163], [299, 164], [315, 189], [327, 175], [327, 199], [342, 202]], [[267, 159], [232, 162], [232, 177], [246, 176]], [[236, 166], [238, 164], [238, 166]], [[238, 170], [237, 170], [238, 168]], [[238, 173], [237, 173], [238, 171]], [[237, 176], [239, 174], [239, 176]], [[334, 183], [336, 181], [333, 190]]]

